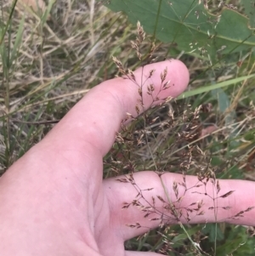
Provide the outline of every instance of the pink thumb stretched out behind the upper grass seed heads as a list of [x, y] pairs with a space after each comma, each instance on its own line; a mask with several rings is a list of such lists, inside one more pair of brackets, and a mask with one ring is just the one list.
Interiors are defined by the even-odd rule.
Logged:
[[[167, 70], [165, 82], [169, 81], [169, 88], [161, 90], [161, 73], [164, 70]], [[82, 151], [85, 144], [91, 145], [101, 156], [105, 156], [127, 112], [137, 116], [135, 105], [141, 100], [139, 88], [142, 90], [144, 109], [147, 109], [153, 104], [151, 95], [147, 94], [148, 86], [153, 85], [153, 97], [158, 96], [162, 100], [181, 94], [190, 79], [189, 71], [179, 60], [145, 65], [133, 74], [137, 84], [131, 79], [115, 78], [91, 89], [48, 134], [54, 139], [54, 145], [59, 148], [75, 145], [78, 151]]]

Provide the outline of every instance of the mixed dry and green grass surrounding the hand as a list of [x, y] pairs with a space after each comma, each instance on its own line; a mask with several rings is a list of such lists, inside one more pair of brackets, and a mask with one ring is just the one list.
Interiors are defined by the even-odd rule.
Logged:
[[[90, 88], [119, 74], [113, 55], [125, 68], [144, 64], [130, 44], [137, 37], [136, 27], [124, 14], [112, 13], [94, 0], [24, 3], [0, 3], [1, 174]], [[209, 8], [217, 12], [218, 3], [208, 1]], [[225, 3], [242, 11], [239, 1]], [[149, 35], [140, 46], [142, 54], [148, 53], [152, 42], [156, 45], [153, 58], [178, 58], [189, 67], [188, 90], [196, 89], [195, 95], [186, 94], [185, 99], [148, 111], [122, 131], [127, 140], [116, 139], [105, 156], [105, 178], [131, 169], [164, 169], [254, 180], [254, 78], [239, 79], [254, 74], [253, 49], [231, 54], [212, 66], [207, 56], [178, 48], [169, 53], [169, 45]], [[218, 88], [205, 87], [213, 84]], [[188, 225], [186, 230], [204, 253], [254, 254], [252, 227], [207, 224]], [[167, 255], [198, 254], [178, 225], [151, 231], [128, 241], [126, 247]]]

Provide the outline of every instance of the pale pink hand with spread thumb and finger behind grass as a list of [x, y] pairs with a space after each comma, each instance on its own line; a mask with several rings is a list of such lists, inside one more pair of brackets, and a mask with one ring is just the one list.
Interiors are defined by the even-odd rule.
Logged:
[[[158, 92], [160, 74], [167, 66], [167, 80], [171, 86], [161, 92], [161, 99], [181, 94], [189, 82], [189, 72], [178, 60], [167, 60], [144, 67], [144, 77], [156, 72], [148, 82]], [[142, 70], [135, 71], [141, 77]], [[174, 84], [174, 86], [173, 86]], [[151, 104], [145, 93], [144, 106]], [[112, 79], [93, 88], [52, 129], [40, 143], [8, 169], [0, 179], [0, 252], [1, 255], [105, 255], [134, 256], [159, 255], [157, 253], [127, 252], [123, 243], [159, 225], [160, 221], [144, 219], [139, 208], [122, 209], [124, 202], [132, 202], [137, 191], [133, 185], [116, 179], [102, 179], [102, 158], [111, 149], [116, 132], [127, 112], [136, 115], [139, 99], [138, 87], [129, 80]], [[167, 195], [158, 175], [150, 170], [133, 174], [139, 188], [151, 196], [175, 200], [173, 181], [182, 181], [182, 175], [161, 176]], [[118, 177], [123, 178], [123, 177]], [[188, 186], [197, 178], [186, 177]], [[220, 195], [235, 191], [226, 198], [218, 198], [217, 219], [236, 225], [255, 225], [255, 211], [244, 213], [240, 219], [229, 219], [246, 208], [255, 206], [255, 185], [244, 180], [220, 180]], [[193, 216], [191, 223], [215, 222], [212, 200], [204, 195], [187, 191], [182, 207], [203, 200], [204, 214]], [[181, 193], [181, 189], [180, 189]], [[212, 193], [212, 186], [207, 187]], [[156, 201], [156, 207], [162, 205]], [[182, 219], [184, 222], [184, 219]], [[139, 222], [144, 226], [133, 229], [128, 225]], [[171, 219], [172, 223], [176, 220]]]

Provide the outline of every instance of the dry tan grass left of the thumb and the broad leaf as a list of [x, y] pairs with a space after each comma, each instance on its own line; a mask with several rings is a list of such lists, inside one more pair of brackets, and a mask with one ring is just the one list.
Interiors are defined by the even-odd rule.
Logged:
[[[1, 161], [1, 173], [52, 126], [38, 126], [38, 120], [57, 122], [89, 88], [114, 76], [111, 56], [122, 55], [121, 42], [132, 33], [125, 17], [93, 0], [58, 0], [47, 17], [48, 5], [42, 1], [42, 9], [35, 8], [36, 0], [20, 1], [3, 38], [8, 55], [25, 19], [14, 62], [6, 66], [5, 57], [0, 59], [0, 126], [7, 133], [1, 133], [0, 156], [8, 158]], [[12, 3], [2, 4], [5, 25]]]

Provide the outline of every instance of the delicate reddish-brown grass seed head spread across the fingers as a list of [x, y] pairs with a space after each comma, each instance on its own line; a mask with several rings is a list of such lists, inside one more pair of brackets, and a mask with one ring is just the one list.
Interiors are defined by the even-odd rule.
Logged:
[[[139, 60], [143, 60], [144, 63], [150, 62], [150, 60], [146, 59], [150, 54], [144, 56], [140, 52], [145, 34], [139, 22], [137, 24], [137, 33], [138, 37], [135, 42], [131, 42], [131, 46], [136, 50]], [[152, 44], [150, 43], [150, 45]], [[155, 48], [154, 44], [154, 49]], [[154, 52], [152, 54], [154, 54]], [[132, 185], [137, 191], [136, 198], [134, 198], [132, 202], [124, 202], [123, 209], [130, 207], [139, 208], [140, 211], [144, 212], [145, 219], [159, 223], [157, 234], [163, 238], [161, 246], [158, 247], [159, 252], [167, 254], [177, 250], [176, 245], [171, 241], [174, 240], [174, 236], [178, 237], [180, 234], [174, 232], [169, 225], [178, 223], [185, 234], [184, 237], [190, 241], [190, 244], [187, 241], [184, 242], [186, 246], [182, 247], [180, 251], [186, 253], [193, 252], [195, 255], [215, 255], [218, 250], [217, 235], [213, 238], [208, 238], [201, 230], [196, 230], [193, 235], [190, 235], [189, 228], [182, 224], [192, 224], [192, 222], [195, 222], [196, 216], [206, 216], [207, 213], [210, 212], [213, 213], [215, 222], [226, 221], [227, 219], [218, 219], [218, 211], [228, 211], [231, 207], [227, 203], [224, 204], [222, 201], [220, 201], [219, 206], [218, 201], [227, 199], [227, 197], [235, 193], [235, 191], [221, 192], [220, 181], [216, 179], [216, 175], [223, 173], [224, 169], [227, 167], [223, 167], [219, 172], [217, 166], [212, 166], [212, 151], [209, 151], [209, 144], [203, 146], [206, 142], [205, 136], [207, 137], [212, 132], [218, 131], [215, 125], [209, 125], [205, 128], [201, 123], [201, 118], [206, 117], [207, 120], [209, 120], [207, 116], [212, 114], [213, 105], [211, 103], [198, 105], [193, 111], [192, 105], [185, 105], [182, 109], [181, 107], [176, 107], [177, 105], [173, 99], [168, 98], [164, 100], [165, 104], [161, 103], [159, 106], [154, 107], [152, 111], [145, 111], [143, 104], [144, 82], [153, 76], [154, 71], [150, 71], [149, 74], [144, 74], [146, 78], [143, 79], [143, 77], [135, 77], [133, 71], [130, 69], [125, 69], [122, 62], [117, 60], [116, 57], [113, 57], [113, 61], [119, 73], [122, 74], [123, 79], [129, 79], [138, 86], [138, 94], [140, 97], [135, 107], [139, 117], [133, 117], [131, 114], [127, 113], [127, 118], [122, 122], [122, 133], [116, 135], [116, 145], [113, 147], [113, 152], [117, 150], [118, 153], [116, 155], [115, 153], [111, 154], [111, 170], [120, 174], [121, 170], [124, 169], [128, 173], [125, 175], [125, 178], [116, 180]], [[170, 81], [166, 81], [167, 68], [161, 72], [160, 76], [161, 92], [161, 90], [167, 89], [170, 84]], [[158, 94], [160, 92], [155, 94], [154, 91], [154, 85], [150, 84], [147, 87], [146, 93], [151, 97], [151, 105], [154, 105], [159, 100]], [[143, 112], [140, 111], [141, 109]], [[162, 117], [164, 113], [167, 115]], [[137, 125], [127, 127], [125, 123], [128, 119], [132, 119]], [[169, 141], [171, 144], [169, 144]], [[209, 141], [207, 141], [207, 143], [208, 142]], [[201, 146], [203, 146], [205, 150], [201, 150]], [[121, 162], [113, 160], [116, 156]], [[105, 166], [108, 166], [108, 164], [109, 162], [107, 162]], [[143, 190], [139, 188], [139, 185], [137, 185], [133, 178], [133, 173], [144, 169], [154, 170], [156, 174], [158, 174], [158, 179], [161, 179], [161, 185], [166, 193], [165, 198], [161, 196], [152, 196], [152, 198], [150, 198], [146, 195], [146, 192], [154, 188]], [[172, 191], [174, 196], [170, 197], [168, 194], [169, 188], [164, 184], [162, 176], [174, 170], [183, 175], [183, 180], [182, 182], [173, 180]], [[197, 180], [194, 185], [190, 186], [186, 184], [186, 174], [197, 175]], [[210, 198], [212, 206], [205, 207], [203, 200], [200, 202], [190, 201], [188, 207], [185, 206], [183, 202], [187, 191], [192, 194], [200, 194], [204, 196], [204, 198]], [[229, 216], [228, 219], [243, 218], [245, 217], [245, 213], [252, 209], [253, 206], [246, 208], [239, 213]], [[152, 217], [150, 218], [150, 216]], [[130, 228], [136, 229], [143, 227], [140, 223], [135, 221], [133, 224], [127, 225]], [[215, 234], [218, 233], [217, 225], [211, 229]], [[150, 235], [146, 234], [144, 237], [150, 237]], [[202, 244], [207, 244], [206, 241], [208, 239], [212, 239], [213, 241], [211, 252], [208, 249], [204, 250], [202, 248]]]

